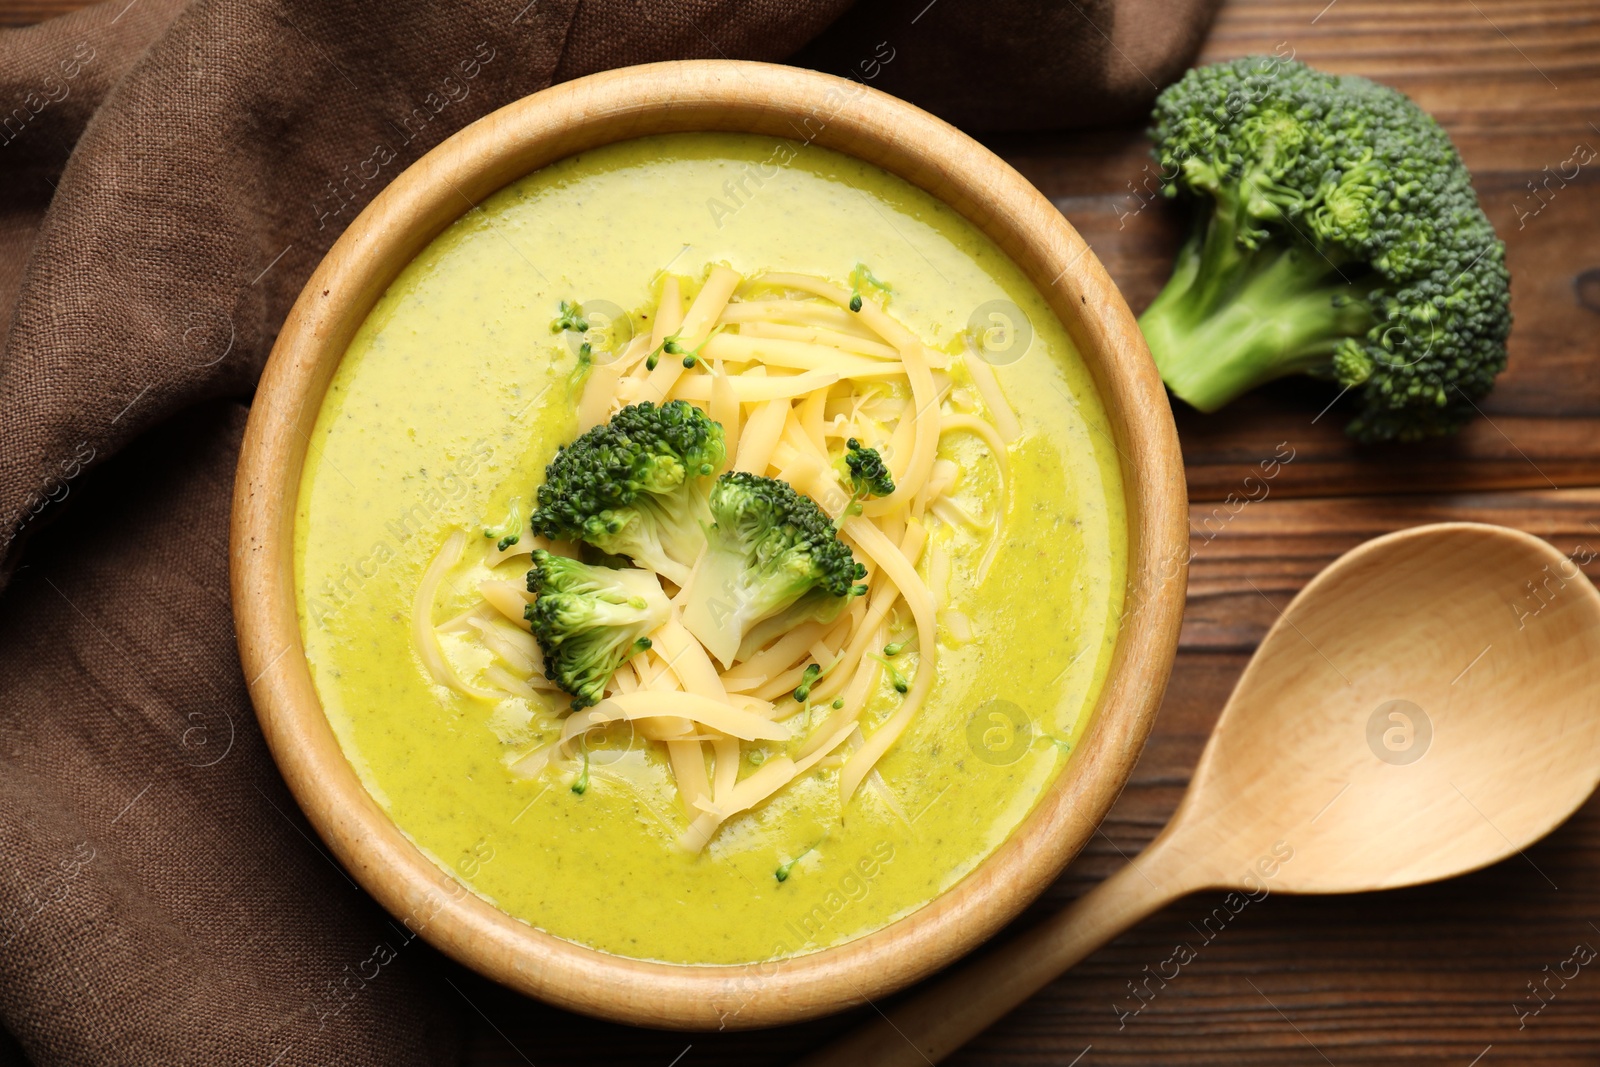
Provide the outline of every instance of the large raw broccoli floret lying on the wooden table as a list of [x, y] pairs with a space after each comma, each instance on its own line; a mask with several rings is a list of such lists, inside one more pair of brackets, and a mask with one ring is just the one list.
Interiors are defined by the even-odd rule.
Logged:
[[1197, 202], [1139, 317], [1174, 395], [1216, 411], [1274, 378], [1325, 378], [1358, 400], [1360, 440], [1472, 416], [1506, 366], [1506, 245], [1427, 112], [1256, 56], [1190, 70], [1154, 122], [1163, 192]]

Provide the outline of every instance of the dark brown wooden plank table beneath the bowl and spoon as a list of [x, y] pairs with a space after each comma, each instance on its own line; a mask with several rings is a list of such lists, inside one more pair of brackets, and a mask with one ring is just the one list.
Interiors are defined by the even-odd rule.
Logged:
[[[1182, 649], [1133, 781], [1102, 832], [1030, 915], [1083, 893], [1141, 849], [1178, 805], [1211, 723], [1256, 641], [1336, 555], [1424, 522], [1520, 526], [1571, 552], [1600, 549], [1600, 181], [1554, 174], [1600, 147], [1600, 3], [1586, 0], [1230, 0], [1203, 61], [1293, 53], [1410, 93], [1454, 136], [1509, 245], [1517, 325], [1510, 368], [1459, 438], [1366, 450], [1341, 434], [1331, 394], [1286, 382], [1218, 416], [1181, 411], [1195, 557]], [[18, 0], [0, 22], [72, 0]], [[1141, 210], [1139, 130], [995, 139], [1050, 195], [1134, 309], [1155, 294], [1178, 242], [1165, 205]], [[1566, 166], [1568, 173], [1571, 166]], [[1539, 186], [1539, 198], [1531, 186]], [[1294, 459], [1266, 499], [1222, 501], [1280, 443]], [[1590, 565], [1590, 576], [1600, 563]], [[1259, 590], [1259, 592], [1258, 592]], [[1515, 707], [1506, 709], [1515, 715]], [[1530, 982], [1574, 945], [1600, 947], [1600, 800], [1526, 857], [1397, 893], [1270, 897], [1198, 949], [1138, 1016], [1130, 982], [1198, 944], [1219, 894], [1150, 918], [994, 1027], [950, 1062], [1323, 1067], [1429, 1062], [1586, 1064], [1600, 1059], [1600, 973], [1538, 1001]], [[1024, 917], [1018, 929], [1027, 925]], [[509, 993], [445, 961], [470, 1003], [478, 1065], [786, 1062], [858, 1016], [762, 1033], [613, 1027]], [[1546, 998], [1549, 995], [1546, 993]], [[870, 1009], [866, 1009], [870, 1011]]]

